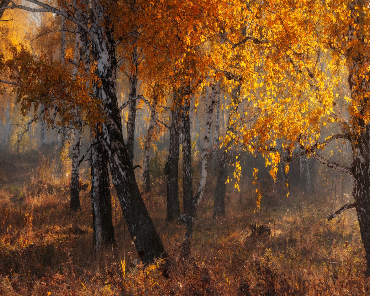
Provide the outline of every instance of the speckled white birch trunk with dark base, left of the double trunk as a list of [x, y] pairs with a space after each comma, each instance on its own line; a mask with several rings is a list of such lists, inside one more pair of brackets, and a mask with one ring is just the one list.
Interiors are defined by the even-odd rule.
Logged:
[[81, 210], [80, 205], [80, 151], [81, 151], [82, 122], [79, 121], [73, 132], [73, 152], [71, 171], [71, 210]]

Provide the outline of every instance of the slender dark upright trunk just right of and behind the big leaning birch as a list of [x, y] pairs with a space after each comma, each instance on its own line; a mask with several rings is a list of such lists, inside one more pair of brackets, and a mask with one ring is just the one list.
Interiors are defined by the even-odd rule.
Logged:
[[[137, 47], [135, 46], [134, 52], [131, 55], [131, 64], [135, 69], [133, 73], [130, 74], [129, 79], [129, 100], [136, 97], [137, 88], [137, 71], [138, 71], [138, 54]], [[136, 100], [132, 101], [128, 105], [128, 120], [127, 120], [127, 153], [128, 157], [132, 163], [134, 160], [134, 138], [135, 138], [135, 118], [136, 118]]]

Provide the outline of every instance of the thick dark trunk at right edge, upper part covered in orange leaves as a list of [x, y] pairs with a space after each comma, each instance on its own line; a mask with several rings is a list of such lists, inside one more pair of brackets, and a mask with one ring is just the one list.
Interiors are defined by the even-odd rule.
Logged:
[[[366, 275], [370, 276], [370, 128], [364, 120], [367, 118], [366, 107], [369, 102], [370, 84], [363, 73], [363, 69], [369, 64], [369, 56], [364, 52], [368, 47], [364, 37], [363, 26], [366, 22], [363, 7], [366, 1], [351, 1], [348, 9], [354, 24], [348, 26], [347, 38], [350, 45], [347, 49], [348, 83], [353, 102], [360, 102], [359, 117], [355, 122], [357, 138], [352, 145], [353, 161], [352, 173], [354, 177], [353, 197], [356, 201], [357, 217], [361, 232], [361, 239], [366, 253]], [[354, 140], [353, 140], [354, 142]]]

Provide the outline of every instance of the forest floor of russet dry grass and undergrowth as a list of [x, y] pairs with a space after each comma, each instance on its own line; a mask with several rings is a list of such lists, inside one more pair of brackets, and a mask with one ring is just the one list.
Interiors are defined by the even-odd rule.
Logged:
[[[214, 220], [207, 189], [184, 261], [185, 226], [164, 222], [164, 194], [143, 195], [170, 265], [135, 265], [117, 199], [117, 248], [95, 258], [90, 188], [81, 192], [81, 212], [71, 212], [68, 178], [56, 167], [30, 155], [0, 160], [0, 295], [370, 295], [353, 210], [326, 222], [332, 208], [314, 196], [292, 192], [289, 202], [268, 206], [262, 199], [257, 211], [254, 196], [231, 191], [226, 215]], [[271, 236], [250, 236], [249, 223], [270, 225]]]

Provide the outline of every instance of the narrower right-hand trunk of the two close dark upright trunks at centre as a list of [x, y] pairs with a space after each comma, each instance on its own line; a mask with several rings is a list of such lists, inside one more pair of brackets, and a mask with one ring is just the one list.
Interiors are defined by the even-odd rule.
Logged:
[[189, 101], [184, 105], [182, 118], [182, 202], [184, 212], [189, 214], [193, 199], [193, 184], [191, 172], [191, 135], [190, 135], [190, 108]]

